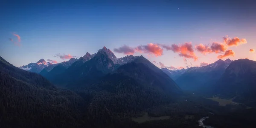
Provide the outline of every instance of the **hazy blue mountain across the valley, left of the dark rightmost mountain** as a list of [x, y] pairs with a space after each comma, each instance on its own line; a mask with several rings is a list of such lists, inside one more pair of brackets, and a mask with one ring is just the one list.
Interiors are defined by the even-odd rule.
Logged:
[[190, 67], [186, 69], [175, 82], [183, 90], [198, 90], [201, 87], [206, 87], [209, 84], [215, 83], [221, 78], [226, 68], [232, 61], [227, 59], [225, 61], [219, 59], [215, 63], [203, 67]]

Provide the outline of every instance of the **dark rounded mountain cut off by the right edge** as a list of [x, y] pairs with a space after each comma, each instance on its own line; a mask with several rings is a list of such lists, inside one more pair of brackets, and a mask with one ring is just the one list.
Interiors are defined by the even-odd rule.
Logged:
[[256, 107], [256, 61], [239, 59], [227, 67], [214, 86], [214, 93]]

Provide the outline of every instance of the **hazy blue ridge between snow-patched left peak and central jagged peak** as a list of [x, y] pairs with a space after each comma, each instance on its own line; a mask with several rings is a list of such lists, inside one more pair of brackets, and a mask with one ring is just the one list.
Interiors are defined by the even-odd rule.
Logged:
[[70, 58], [69, 61], [49, 65], [48, 67], [45, 67], [44, 70], [42, 70], [39, 74], [47, 79], [51, 79], [52, 77], [63, 73], [68, 67], [70, 67], [70, 65], [75, 63], [77, 60], [77, 58]]

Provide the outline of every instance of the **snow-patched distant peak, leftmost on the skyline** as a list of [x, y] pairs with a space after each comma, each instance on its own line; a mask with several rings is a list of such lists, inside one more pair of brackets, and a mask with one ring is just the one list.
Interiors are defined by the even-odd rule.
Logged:
[[46, 62], [44, 59], [40, 59], [36, 63], [29, 63], [27, 65], [23, 65], [20, 67], [20, 69], [34, 72], [34, 73], [40, 73], [45, 67], [52, 65], [50, 62]]

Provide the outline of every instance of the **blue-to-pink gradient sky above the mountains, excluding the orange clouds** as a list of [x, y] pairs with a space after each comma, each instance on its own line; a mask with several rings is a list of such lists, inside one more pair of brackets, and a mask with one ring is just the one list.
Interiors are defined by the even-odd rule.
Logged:
[[[123, 1], [123, 2], [121, 2]], [[253, 0], [2, 0], [0, 2], [0, 56], [22, 66], [41, 58], [64, 61], [56, 54], [81, 57], [106, 46], [132, 48], [149, 43], [182, 45], [191, 42], [197, 61], [162, 46], [163, 55], [143, 55], [170, 67], [213, 63], [222, 53], [204, 55], [195, 46], [223, 43], [238, 37], [247, 44], [228, 47], [231, 60], [256, 60], [256, 2]], [[17, 34], [20, 36], [18, 41]], [[10, 39], [11, 38], [11, 39]], [[11, 41], [12, 40], [12, 41]], [[117, 58], [125, 56], [114, 52]]]

